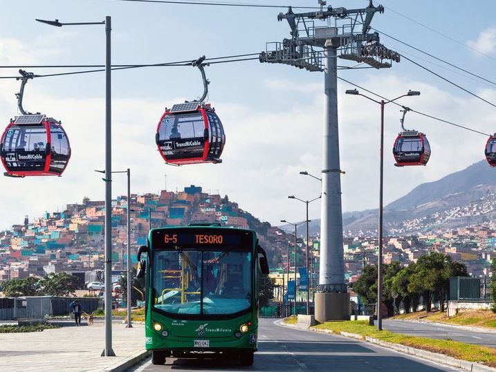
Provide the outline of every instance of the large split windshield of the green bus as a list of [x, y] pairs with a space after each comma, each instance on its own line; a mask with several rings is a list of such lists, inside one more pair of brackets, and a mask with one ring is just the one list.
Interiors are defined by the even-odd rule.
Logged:
[[252, 253], [232, 250], [154, 251], [154, 307], [177, 315], [228, 315], [247, 310]]

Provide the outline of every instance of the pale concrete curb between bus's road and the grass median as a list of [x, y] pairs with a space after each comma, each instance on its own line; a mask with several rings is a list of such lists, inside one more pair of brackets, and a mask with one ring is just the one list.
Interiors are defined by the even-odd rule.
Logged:
[[[290, 328], [302, 329], [302, 328], [297, 327], [293, 324], [285, 324], [284, 322], [280, 322], [280, 324], [282, 324], [283, 326], [286, 326], [286, 327], [290, 327]], [[333, 333], [333, 331], [331, 331], [329, 329], [306, 328], [306, 331], [331, 333], [333, 335], [336, 335], [336, 333]], [[490, 366], [484, 366], [484, 364], [479, 364], [479, 363], [475, 363], [475, 362], [468, 362], [467, 360], [459, 360], [459, 359], [455, 359], [454, 357], [449, 357], [448, 355], [439, 354], [439, 353], [432, 353], [432, 351], [425, 351], [425, 350], [421, 350], [419, 348], [412, 348], [410, 346], [405, 346], [402, 344], [393, 344], [392, 342], [377, 340], [374, 337], [362, 336], [362, 335], [358, 335], [356, 333], [348, 333], [348, 332], [340, 332], [340, 335], [345, 336], [345, 337], [350, 337], [350, 338], [353, 338], [355, 340], [362, 341], [362, 342], [370, 342], [371, 344], [382, 346], [384, 348], [390, 348], [394, 351], [398, 351], [399, 353], [414, 355], [416, 357], [420, 357], [421, 359], [431, 360], [432, 362], [437, 362], [437, 363], [445, 364], [448, 366], [454, 366], [454, 367], [457, 367], [460, 369], [464, 369], [466, 371], [496, 372], [495, 368], [490, 367]]]

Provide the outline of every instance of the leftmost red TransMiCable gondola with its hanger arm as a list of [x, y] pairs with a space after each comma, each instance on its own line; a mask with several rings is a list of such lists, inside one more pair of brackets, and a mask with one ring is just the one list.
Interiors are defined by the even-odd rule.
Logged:
[[60, 122], [22, 108], [24, 85], [32, 73], [19, 71], [21, 91], [17, 95], [23, 115], [10, 120], [0, 140], [0, 158], [5, 176], [60, 176], [71, 158], [71, 147]]

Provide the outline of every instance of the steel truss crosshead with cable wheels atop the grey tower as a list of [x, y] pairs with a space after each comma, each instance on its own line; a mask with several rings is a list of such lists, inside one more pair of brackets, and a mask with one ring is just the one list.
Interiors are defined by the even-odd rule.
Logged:
[[[326, 46], [338, 50], [338, 57], [365, 63], [374, 68], [391, 67], [400, 62], [400, 55], [380, 44], [378, 32], [369, 32], [370, 22], [376, 12], [383, 13], [383, 6], [346, 9], [327, 7], [320, 1], [322, 10], [295, 14], [291, 6], [286, 14], [279, 13], [278, 21], [286, 19], [291, 27], [291, 39], [266, 44], [260, 53], [260, 62], [288, 64], [308, 71], [324, 71], [323, 52]], [[315, 26], [315, 20], [325, 26]], [[361, 29], [360, 29], [361, 26]]]

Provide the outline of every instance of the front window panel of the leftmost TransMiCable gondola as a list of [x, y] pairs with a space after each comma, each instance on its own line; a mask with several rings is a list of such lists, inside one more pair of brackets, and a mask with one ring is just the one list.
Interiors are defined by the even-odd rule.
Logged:
[[9, 171], [43, 171], [45, 168], [46, 129], [36, 127], [8, 128], [2, 144], [2, 158]]

